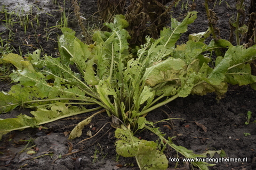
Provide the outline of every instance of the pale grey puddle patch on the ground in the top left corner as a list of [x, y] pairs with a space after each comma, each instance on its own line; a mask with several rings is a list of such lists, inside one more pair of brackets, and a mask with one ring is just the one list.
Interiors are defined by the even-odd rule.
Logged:
[[14, 13], [28, 13], [28, 12], [49, 12], [50, 7], [54, 6], [52, 0], [0, 0], [0, 10], [7, 10]]

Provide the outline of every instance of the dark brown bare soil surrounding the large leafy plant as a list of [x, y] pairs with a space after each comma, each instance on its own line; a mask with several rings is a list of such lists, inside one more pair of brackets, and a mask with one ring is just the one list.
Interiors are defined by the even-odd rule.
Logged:
[[[57, 2], [64, 10], [63, 1], [58, 0]], [[88, 22], [85, 25], [98, 24], [98, 14], [92, 15], [97, 12], [97, 1], [81, 0], [79, 2], [83, 17], [88, 19], [85, 21]], [[187, 40], [189, 33], [203, 32], [207, 29], [203, 2], [196, 1], [195, 11], [198, 11], [198, 19], [190, 25], [188, 33], [182, 36], [181, 41], [183, 43]], [[231, 9], [224, 2], [219, 6], [219, 1], [214, 8], [219, 17], [218, 27], [223, 39], [229, 38], [228, 19], [236, 12], [233, 1], [227, 2]], [[13, 25], [12, 32], [15, 36], [10, 44], [17, 50], [13, 53], [19, 54], [20, 46], [23, 56], [28, 51], [33, 52], [36, 48], [43, 49], [44, 54], [58, 56], [57, 38], [58, 35], [61, 35], [61, 31], [57, 27], [50, 27], [55, 26], [56, 22], [60, 20], [61, 10], [58, 5], [51, 5], [51, 9], [52, 12], [48, 13], [54, 17], [45, 13], [39, 14], [40, 26], [38, 25], [36, 30], [29, 27], [24, 33], [19, 24]], [[73, 11], [71, 1], [65, 3], [65, 11], [67, 15], [68, 12]], [[173, 17], [178, 18], [180, 11], [180, 6], [173, 8]], [[186, 12], [186, 9], [183, 10], [183, 13]], [[4, 17], [1, 15], [0, 19]], [[82, 37], [74, 14], [71, 13], [69, 17], [68, 26], [77, 31], [78, 37]], [[44, 29], [46, 21], [48, 29]], [[33, 22], [36, 24], [35, 21]], [[9, 30], [5, 30], [5, 33], [1, 35], [2, 39], [8, 38], [8, 36]], [[47, 36], [49, 39], [46, 38]], [[9, 83], [0, 81], [0, 90], [7, 91], [10, 88]], [[252, 117], [250, 124], [245, 125], [248, 111], [252, 112]], [[0, 115], [0, 118], [13, 117], [20, 113], [29, 114], [29, 110], [17, 109], [11, 113]], [[0, 141], [0, 169], [139, 169], [134, 158], [123, 158], [116, 154], [115, 129], [111, 128], [110, 123], [108, 123], [111, 119], [106, 114], [95, 117], [92, 123], [84, 128], [80, 138], [73, 141], [68, 140], [65, 133], [71, 131], [77, 123], [91, 114], [82, 114], [46, 124], [44, 127], [48, 129], [41, 131], [26, 129], [5, 135]], [[225, 98], [219, 101], [215, 100], [214, 94], [178, 98], [150, 112], [146, 118], [148, 121], [181, 118], [181, 120], [158, 123], [157, 126], [166, 134], [165, 137], [175, 136], [173, 142], [176, 145], [186, 147], [197, 154], [209, 150], [224, 150], [226, 158], [246, 158], [246, 162], [219, 162], [210, 169], [256, 169], [256, 123], [252, 123], [256, 120], [256, 92], [250, 87], [230, 86]], [[198, 126], [198, 123], [204, 125], [207, 131]], [[77, 144], [88, 138], [87, 131], [91, 130], [92, 135], [94, 135], [103, 125], [105, 127], [94, 138]], [[245, 136], [244, 133], [251, 135]], [[145, 140], [157, 140], [157, 137], [148, 131], [142, 131], [137, 134], [137, 137]], [[28, 155], [26, 148], [33, 145], [35, 145], [34, 149], [37, 153]], [[69, 148], [72, 148], [71, 151], [75, 153], [66, 155]], [[177, 152], [171, 148], [167, 148], [164, 152], [168, 159], [177, 157]], [[37, 158], [32, 159], [35, 157]], [[218, 158], [219, 156], [215, 154], [214, 157]], [[179, 158], [182, 157], [179, 155]], [[176, 162], [170, 162], [169, 168], [174, 168], [175, 164]], [[178, 163], [178, 168], [192, 169], [190, 164], [187, 165], [183, 162]], [[197, 168], [194, 167], [194, 169]]]

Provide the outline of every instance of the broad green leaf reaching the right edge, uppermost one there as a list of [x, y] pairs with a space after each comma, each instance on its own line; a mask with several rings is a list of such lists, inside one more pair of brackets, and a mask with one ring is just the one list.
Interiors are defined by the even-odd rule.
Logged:
[[232, 84], [245, 85], [255, 82], [250, 65], [244, 64], [256, 58], [255, 47], [245, 49], [243, 46], [231, 46], [223, 58], [217, 58], [216, 67], [206, 81], [214, 86], [219, 85], [226, 77]]

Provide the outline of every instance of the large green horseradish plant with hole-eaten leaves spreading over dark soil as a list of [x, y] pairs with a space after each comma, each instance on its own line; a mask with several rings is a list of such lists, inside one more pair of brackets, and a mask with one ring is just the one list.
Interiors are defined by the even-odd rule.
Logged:
[[[175, 45], [195, 19], [196, 12], [188, 13], [182, 22], [172, 19], [171, 28], [164, 28], [159, 39], [146, 37], [145, 44], [130, 48], [127, 43], [130, 36], [125, 30], [128, 23], [123, 15], [116, 15], [114, 23], [105, 23], [110, 32], [94, 33], [93, 45], [82, 43], [73, 30], [62, 28], [60, 58], [47, 55], [40, 58], [39, 50], [27, 60], [16, 54], [4, 55], [2, 63], [17, 67], [10, 75], [17, 84], [9, 92], [0, 93], [2, 113], [18, 106], [35, 111], [31, 112], [34, 117], [19, 115], [1, 120], [1, 133], [103, 108], [108, 116], [122, 121], [116, 129], [117, 153], [135, 157], [141, 169], [168, 166], [157, 143], [134, 137], [135, 131], [144, 128], [158, 135], [162, 146], [169, 145], [187, 158], [204, 157], [174, 145], [143, 115], [190, 94], [215, 92], [220, 97], [227, 91], [227, 83], [251, 84], [255, 89], [256, 77], [251, 75], [250, 61], [255, 58], [256, 48], [233, 46], [221, 39], [206, 45], [204, 39], [209, 32], [190, 35], [186, 44]], [[210, 67], [210, 58], [203, 54], [218, 48], [227, 51]], [[86, 109], [86, 105], [95, 108]], [[84, 125], [98, 113], [79, 123], [69, 139], [80, 137]], [[192, 164], [201, 169], [211, 166], [202, 162]]]

